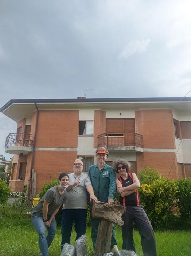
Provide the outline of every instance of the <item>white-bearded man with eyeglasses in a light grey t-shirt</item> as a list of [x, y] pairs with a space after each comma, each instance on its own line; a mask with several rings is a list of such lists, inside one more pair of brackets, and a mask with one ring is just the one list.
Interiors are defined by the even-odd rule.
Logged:
[[82, 158], [78, 158], [74, 162], [73, 173], [69, 175], [69, 186], [67, 187], [67, 201], [63, 204], [62, 214], [62, 242], [61, 249], [65, 243], [70, 244], [70, 237], [73, 222], [75, 223], [76, 240], [86, 232], [87, 217], [87, 193], [90, 194], [91, 200], [97, 200], [94, 195], [93, 187], [89, 176], [82, 173]]

